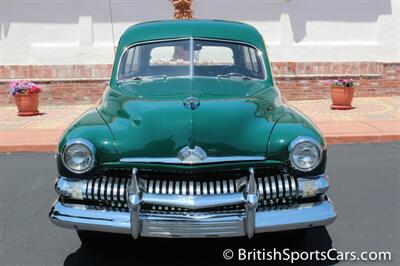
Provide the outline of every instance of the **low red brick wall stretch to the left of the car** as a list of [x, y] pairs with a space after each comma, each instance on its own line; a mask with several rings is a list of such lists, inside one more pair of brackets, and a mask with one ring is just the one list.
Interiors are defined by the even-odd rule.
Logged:
[[0, 66], [0, 104], [13, 104], [8, 79], [30, 79], [39, 84], [43, 104], [95, 103], [107, 86], [111, 65]]

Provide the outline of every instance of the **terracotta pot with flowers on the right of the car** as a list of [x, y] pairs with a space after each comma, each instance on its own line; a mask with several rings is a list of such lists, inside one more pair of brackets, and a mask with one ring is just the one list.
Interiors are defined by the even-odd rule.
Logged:
[[331, 82], [331, 109], [348, 110], [353, 108], [355, 83], [352, 79], [337, 79]]

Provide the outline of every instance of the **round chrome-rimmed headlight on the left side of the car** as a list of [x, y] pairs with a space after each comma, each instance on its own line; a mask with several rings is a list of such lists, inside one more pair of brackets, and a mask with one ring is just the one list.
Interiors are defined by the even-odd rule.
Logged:
[[69, 171], [82, 174], [93, 168], [95, 149], [84, 139], [68, 141], [62, 152], [62, 162]]

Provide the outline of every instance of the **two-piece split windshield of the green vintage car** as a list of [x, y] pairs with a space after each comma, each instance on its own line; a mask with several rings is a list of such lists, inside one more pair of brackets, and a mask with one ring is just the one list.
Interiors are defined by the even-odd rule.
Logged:
[[225, 41], [178, 40], [130, 47], [119, 66], [118, 80], [145, 77], [240, 77], [265, 79], [259, 52], [252, 46]]

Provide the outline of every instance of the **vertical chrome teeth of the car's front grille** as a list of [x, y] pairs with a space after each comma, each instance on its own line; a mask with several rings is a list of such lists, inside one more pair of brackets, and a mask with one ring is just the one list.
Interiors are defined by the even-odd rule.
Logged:
[[[244, 189], [246, 178], [212, 181], [139, 179], [139, 183], [147, 193], [194, 196], [240, 192]], [[103, 205], [126, 207], [126, 190], [130, 182], [129, 178], [123, 177], [92, 178], [87, 182], [83, 198]], [[298, 183], [293, 176], [257, 177], [256, 182], [260, 192], [259, 203], [261, 205], [287, 202], [298, 198]], [[150, 209], [160, 208], [151, 206]]]

